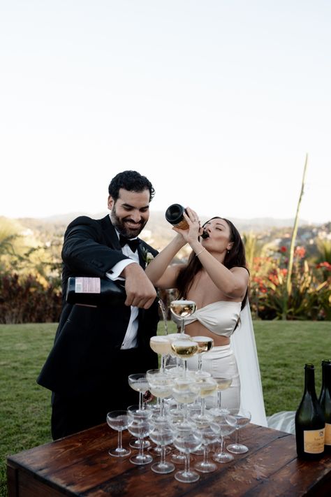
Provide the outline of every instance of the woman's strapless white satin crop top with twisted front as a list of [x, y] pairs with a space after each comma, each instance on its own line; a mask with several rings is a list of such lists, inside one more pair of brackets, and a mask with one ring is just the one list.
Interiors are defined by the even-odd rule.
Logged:
[[[198, 321], [212, 333], [230, 337], [239, 319], [241, 308], [241, 302], [213, 302], [201, 309], [197, 309], [191, 316], [184, 317], [184, 323], [191, 324]], [[172, 319], [177, 324], [182, 322], [182, 319], [176, 316], [172, 316]]]

